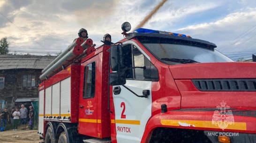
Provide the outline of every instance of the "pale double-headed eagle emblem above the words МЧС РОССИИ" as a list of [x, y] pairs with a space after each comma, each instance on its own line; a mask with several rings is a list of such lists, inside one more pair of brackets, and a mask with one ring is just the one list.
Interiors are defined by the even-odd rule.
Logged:
[[[214, 111], [212, 116], [212, 124], [224, 130], [230, 124], [234, 124], [234, 117], [229, 106], [226, 106], [226, 102], [220, 102], [220, 106], [217, 106], [217, 110]], [[226, 111], [227, 110], [227, 111]]]

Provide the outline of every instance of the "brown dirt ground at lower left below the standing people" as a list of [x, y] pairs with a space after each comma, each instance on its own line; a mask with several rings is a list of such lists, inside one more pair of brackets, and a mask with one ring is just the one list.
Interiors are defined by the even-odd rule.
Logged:
[[0, 143], [39, 143], [38, 130], [7, 130], [0, 132]]

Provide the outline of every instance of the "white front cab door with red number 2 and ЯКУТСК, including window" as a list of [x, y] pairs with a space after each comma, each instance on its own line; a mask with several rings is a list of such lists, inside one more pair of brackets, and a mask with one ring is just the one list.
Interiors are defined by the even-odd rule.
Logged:
[[[123, 43], [122, 53], [125, 67], [153, 66], [150, 57], [139, 46], [130, 41]], [[115, 109], [116, 139], [118, 143], [140, 143], [147, 121], [151, 117], [151, 79], [143, 75], [142, 68], [126, 70], [126, 84], [113, 86]], [[143, 91], [149, 93], [147, 98], [138, 97]]]

